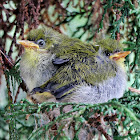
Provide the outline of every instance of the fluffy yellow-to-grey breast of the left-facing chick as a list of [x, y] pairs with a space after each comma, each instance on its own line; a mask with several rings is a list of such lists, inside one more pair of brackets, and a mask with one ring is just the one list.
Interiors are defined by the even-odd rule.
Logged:
[[52, 64], [54, 55], [22, 56], [20, 62], [20, 74], [29, 91], [41, 86], [52, 77], [56, 67]]

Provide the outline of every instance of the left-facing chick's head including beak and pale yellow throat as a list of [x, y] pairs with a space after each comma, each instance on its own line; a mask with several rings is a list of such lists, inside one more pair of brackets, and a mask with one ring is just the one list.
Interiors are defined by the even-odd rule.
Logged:
[[61, 40], [60, 33], [51, 28], [41, 27], [31, 30], [27, 35], [27, 40], [19, 41], [24, 46], [22, 60], [28, 61], [32, 66], [37, 66], [42, 58], [51, 56], [50, 49]]

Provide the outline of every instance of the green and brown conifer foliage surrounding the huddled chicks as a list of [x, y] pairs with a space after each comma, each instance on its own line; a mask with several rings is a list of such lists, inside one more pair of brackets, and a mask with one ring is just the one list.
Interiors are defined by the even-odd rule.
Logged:
[[[23, 50], [17, 40], [39, 24], [90, 42], [101, 36], [122, 41], [132, 52], [126, 58], [130, 85], [124, 96], [95, 105], [18, 101], [27, 89], [20, 77]], [[0, 1], [0, 84], [4, 81], [1, 88], [7, 98], [0, 106], [0, 139], [79, 139], [83, 130], [89, 139], [140, 139], [140, 1]], [[64, 113], [66, 106], [72, 109]], [[60, 115], [52, 119], [49, 112], [56, 109]], [[42, 122], [43, 113], [47, 123]]]

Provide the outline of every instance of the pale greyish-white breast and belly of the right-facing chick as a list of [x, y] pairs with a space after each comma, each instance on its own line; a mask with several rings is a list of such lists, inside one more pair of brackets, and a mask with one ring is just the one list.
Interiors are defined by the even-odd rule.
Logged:
[[95, 86], [82, 83], [75, 87], [74, 93], [67, 96], [64, 102], [97, 104], [113, 98], [121, 98], [126, 88], [126, 75], [121, 69], [116, 76], [111, 77]]

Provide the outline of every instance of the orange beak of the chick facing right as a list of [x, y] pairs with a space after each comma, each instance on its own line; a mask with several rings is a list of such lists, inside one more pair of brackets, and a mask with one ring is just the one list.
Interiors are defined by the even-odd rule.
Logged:
[[125, 58], [130, 53], [131, 53], [131, 51], [118, 52], [118, 53], [115, 53], [115, 54], [111, 55], [109, 58], [117, 61], [120, 58]]

